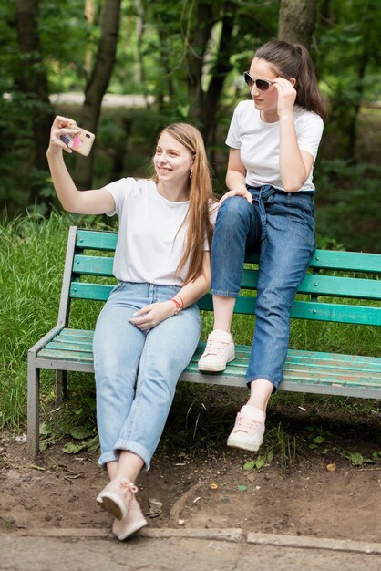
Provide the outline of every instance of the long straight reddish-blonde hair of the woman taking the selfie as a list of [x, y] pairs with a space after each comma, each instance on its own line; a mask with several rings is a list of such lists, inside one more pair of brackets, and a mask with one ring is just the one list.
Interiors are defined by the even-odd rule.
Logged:
[[[177, 267], [176, 274], [190, 260], [188, 274], [184, 280], [187, 284], [201, 275], [205, 236], [211, 249], [213, 229], [211, 225], [211, 207], [213, 192], [211, 186], [211, 169], [206, 157], [205, 145], [201, 132], [188, 123], [172, 123], [165, 127], [160, 135], [167, 132], [173, 139], [181, 143], [193, 157], [193, 165], [189, 180], [188, 233], [184, 254]], [[160, 139], [160, 135], [158, 140]], [[158, 182], [158, 177], [153, 177]]]

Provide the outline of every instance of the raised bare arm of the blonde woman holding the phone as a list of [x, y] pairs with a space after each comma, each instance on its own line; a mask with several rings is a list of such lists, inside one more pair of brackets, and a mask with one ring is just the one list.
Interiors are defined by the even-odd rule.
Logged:
[[115, 202], [105, 189], [78, 191], [64, 161], [62, 151], [71, 152], [60, 139], [64, 133], [77, 132], [76, 122], [66, 117], [56, 117], [50, 130], [49, 147], [46, 151], [47, 162], [59, 202], [63, 208], [77, 214], [103, 214], [115, 209]]

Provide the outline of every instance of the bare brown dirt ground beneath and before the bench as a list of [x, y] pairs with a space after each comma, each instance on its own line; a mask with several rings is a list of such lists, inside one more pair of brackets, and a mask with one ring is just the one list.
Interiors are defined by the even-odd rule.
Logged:
[[[336, 440], [344, 445], [347, 435], [338, 432]], [[376, 450], [376, 441], [366, 433], [362, 438], [361, 429], [353, 438], [365, 456]], [[95, 502], [107, 482], [97, 452], [67, 455], [62, 447], [49, 448], [32, 463], [25, 437], [1, 435], [0, 530], [109, 528], [110, 516]], [[184, 452], [155, 457], [139, 477], [137, 496], [149, 526], [381, 541], [378, 460], [356, 467], [340, 455], [330, 459], [311, 451], [285, 470], [276, 457], [261, 470], [244, 470], [250, 460], [249, 452], [224, 446], [192, 458]], [[334, 462], [335, 472], [328, 472]]]

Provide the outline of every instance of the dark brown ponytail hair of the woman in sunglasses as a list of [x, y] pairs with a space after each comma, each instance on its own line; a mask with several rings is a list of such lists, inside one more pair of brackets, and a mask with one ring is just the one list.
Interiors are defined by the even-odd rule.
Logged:
[[295, 104], [314, 111], [323, 120], [327, 118], [327, 109], [317, 85], [314, 64], [304, 46], [274, 40], [257, 49], [254, 57], [272, 64], [273, 72], [277, 75], [286, 79], [295, 78]]

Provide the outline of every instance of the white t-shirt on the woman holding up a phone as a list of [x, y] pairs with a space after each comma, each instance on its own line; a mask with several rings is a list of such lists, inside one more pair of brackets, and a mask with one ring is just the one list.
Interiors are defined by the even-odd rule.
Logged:
[[[126, 178], [105, 187], [119, 217], [114, 275], [123, 282], [182, 285], [189, 262], [176, 274], [188, 231], [189, 201], [171, 202], [146, 179]], [[184, 222], [184, 223], [183, 223]], [[204, 250], [209, 250], [208, 241]]]

